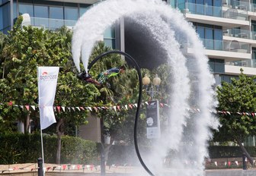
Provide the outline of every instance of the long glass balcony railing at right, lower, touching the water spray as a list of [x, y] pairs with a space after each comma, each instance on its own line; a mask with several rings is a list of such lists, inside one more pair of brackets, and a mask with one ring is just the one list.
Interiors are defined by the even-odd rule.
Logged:
[[236, 40], [223, 41], [216, 39], [201, 39], [205, 49], [227, 51], [227, 52], [242, 52], [251, 53], [251, 47], [248, 43], [238, 42]]

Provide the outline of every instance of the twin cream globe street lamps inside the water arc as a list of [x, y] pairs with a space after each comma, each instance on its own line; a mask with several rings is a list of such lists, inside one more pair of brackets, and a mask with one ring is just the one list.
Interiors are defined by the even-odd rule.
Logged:
[[[151, 82], [150, 78], [148, 77], [147, 74], [145, 74], [145, 76], [142, 78], [142, 84], [144, 86], [146, 86], [146, 93], [148, 93], [149, 96], [152, 99], [155, 96], [155, 93], [158, 93], [159, 85], [161, 83], [161, 79], [156, 74], [154, 79], [153, 79], [153, 83], [149, 87], [150, 82]], [[156, 90], [154, 89], [154, 86], [155, 86]]]

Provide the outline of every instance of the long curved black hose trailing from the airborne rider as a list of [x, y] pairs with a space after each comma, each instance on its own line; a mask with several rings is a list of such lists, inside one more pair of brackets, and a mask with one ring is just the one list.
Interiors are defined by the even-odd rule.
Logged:
[[109, 55], [109, 54], [124, 55], [126, 58], [128, 58], [134, 64], [136, 71], [138, 73], [138, 76], [139, 76], [139, 99], [138, 99], [138, 105], [137, 105], [137, 109], [136, 109], [136, 118], [135, 118], [135, 124], [134, 124], [134, 146], [135, 146], [136, 154], [138, 156], [140, 164], [143, 166], [143, 168], [145, 168], [145, 170], [150, 175], [154, 176], [154, 174], [152, 174], [152, 172], [149, 170], [149, 168], [146, 166], [146, 164], [142, 160], [142, 157], [139, 153], [139, 146], [138, 146], [138, 140], [137, 140], [137, 127], [138, 127], [137, 124], [138, 124], [138, 119], [139, 119], [139, 110], [140, 110], [140, 106], [141, 106], [141, 102], [142, 102], [142, 74], [141, 74], [141, 71], [139, 68], [139, 64], [137, 64], [135, 59], [132, 56], [128, 55], [126, 52], [113, 50], [110, 52], [104, 52], [101, 55], [98, 55], [96, 58], [94, 58], [94, 60], [91, 61], [91, 63], [88, 65], [88, 72], [91, 69], [91, 67], [96, 63], [96, 61], [98, 61], [100, 58], [104, 57], [105, 55]]

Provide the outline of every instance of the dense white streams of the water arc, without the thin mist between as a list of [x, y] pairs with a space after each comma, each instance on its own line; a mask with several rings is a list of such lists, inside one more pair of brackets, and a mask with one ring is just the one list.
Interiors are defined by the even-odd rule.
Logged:
[[[151, 16], [147, 17], [146, 15], [148, 14], [151, 14]], [[198, 39], [193, 27], [187, 23], [180, 12], [171, 9], [168, 5], [164, 5], [160, 0], [107, 0], [99, 3], [87, 11], [78, 20], [74, 28], [72, 55], [78, 71], [80, 71], [80, 55], [82, 54], [82, 62], [85, 71], [87, 71], [88, 58], [94, 43], [104, 33], [104, 30], [119, 20], [120, 17], [130, 17], [137, 24], [141, 24], [142, 27], [149, 29], [149, 36], [154, 41], [160, 43], [162, 49], [167, 51], [168, 62], [171, 64], [174, 74], [172, 80], [170, 80], [174, 93], [171, 97], [171, 104], [173, 105], [170, 111], [171, 129], [169, 130], [170, 133], [165, 135], [165, 138], [169, 141], [162, 141], [162, 143], [168, 143], [171, 149], [181, 151], [184, 149], [180, 146], [182, 135], [184, 135], [184, 127], [186, 126], [187, 118], [191, 118], [187, 117], [186, 113], [187, 107], [189, 107], [187, 96], [191, 96], [191, 93], [188, 86], [188, 68], [185, 66], [187, 60], [181, 53], [178, 47], [181, 43], [175, 40], [175, 36], [178, 33], [187, 39], [186, 42], [190, 43], [195, 58], [194, 69], [196, 70], [195, 77], [198, 80], [198, 92], [201, 96], [197, 100], [200, 113], [197, 115], [197, 118], [191, 119], [196, 125], [193, 134], [191, 134], [194, 146], [191, 146], [190, 153], [197, 153], [197, 157], [194, 159], [200, 166], [190, 168], [190, 171], [185, 170], [184, 168], [186, 167], [182, 168], [183, 165], [181, 165], [181, 170], [179, 170], [181, 173], [177, 172], [177, 174], [173, 175], [203, 175], [201, 174], [203, 171], [203, 165], [201, 163], [203, 163], [203, 159], [206, 156], [205, 143], [210, 135], [208, 127], [212, 126], [211, 123], [214, 119], [211, 112], [216, 107], [216, 101], [213, 99], [214, 93], [211, 87], [214, 80], [208, 68], [208, 59], [203, 53], [203, 45]], [[216, 127], [217, 123], [213, 124]], [[165, 146], [165, 149], [160, 151], [162, 152], [161, 157], [167, 149], [167, 146]], [[184, 159], [189, 158], [190, 153], [187, 153], [187, 156], [183, 156]], [[182, 163], [182, 160], [180, 160], [180, 163]], [[194, 169], [200, 169], [198, 172], [200, 174], [197, 174]]]

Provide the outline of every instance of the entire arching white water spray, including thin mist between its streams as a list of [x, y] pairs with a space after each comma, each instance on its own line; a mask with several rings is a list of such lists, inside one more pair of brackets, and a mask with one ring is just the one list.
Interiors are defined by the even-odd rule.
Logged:
[[[171, 66], [169, 129], [155, 143], [155, 150], [151, 153], [153, 158], [147, 158], [146, 165], [156, 175], [203, 175], [203, 161], [208, 155], [206, 144], [211, 137], [209, 127], [218, 125], [213, 123], [216, 120], [212, 115], [216, 107], [212, 89], [214, 79], [197, 33], [179, 11], [161, 0], [108, 0], [95, 5], [78, 20], [74, 28], [72, 55], [78, 71], [80, 56], [87, 71], [94, 43], [107, 27], [120, 18], [132, 20], [147, 29], [148, 37], [158, 43], [155, 48], [166, 52]], [[193, 49], [190, 56], [181, 49], [184, 43]], [[195, 97], [194, 91], [200, 96]], [[190, 101], [191, 97], [194, 102]], [[188, 111], [194, 107], [200, 112]], [[161, 163], [170, 149], [176, 153], [171, 166], [166, 169]]]

